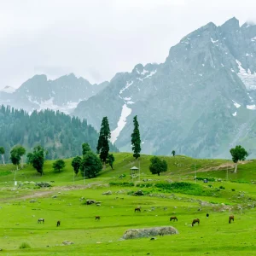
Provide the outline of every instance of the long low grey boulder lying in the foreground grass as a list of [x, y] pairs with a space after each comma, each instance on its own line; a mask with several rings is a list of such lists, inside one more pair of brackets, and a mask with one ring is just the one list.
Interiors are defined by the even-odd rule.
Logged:
[[131, 229], [126, 230], [123, 239], [134, 239], [140, 237], [150, 237], [150, 236], [164, 236], [164, 235], [175, 235], [178, 234], [177, 229], [168, 227], [155, 227], [149, 229]]

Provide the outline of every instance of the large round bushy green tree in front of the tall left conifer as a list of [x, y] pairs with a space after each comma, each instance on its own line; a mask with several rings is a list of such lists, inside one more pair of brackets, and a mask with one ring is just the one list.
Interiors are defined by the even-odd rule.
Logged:
[[102, 161], [96, 154], [89, 151], [81, 160], [80, 170], [83, 176], [96, 177], [102, 171]]

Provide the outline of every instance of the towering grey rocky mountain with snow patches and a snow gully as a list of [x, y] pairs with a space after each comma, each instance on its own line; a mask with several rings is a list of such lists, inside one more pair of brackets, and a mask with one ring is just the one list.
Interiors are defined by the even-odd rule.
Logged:
[[241, 143], [256, 156], [255, 102], [256, 26], [232, 18], [191, 32], [164, 63], [117, 73], [73, 114], [96, 129], [108, 116], [120, 150], [131, 150], [137, 115], [144, 153], [230, 157]]

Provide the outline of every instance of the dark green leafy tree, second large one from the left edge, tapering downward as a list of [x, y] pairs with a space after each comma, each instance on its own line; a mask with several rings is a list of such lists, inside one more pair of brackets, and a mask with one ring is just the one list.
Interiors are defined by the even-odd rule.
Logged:
[[44, 150], [41, 146], [37, 146], [33, 149], [33, 153], [26, 154], [28, 159], [28, 163], [32, 164], [32, 166], [41, 174], [44, 174], [44, 160], [47, 151]]

